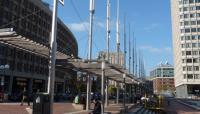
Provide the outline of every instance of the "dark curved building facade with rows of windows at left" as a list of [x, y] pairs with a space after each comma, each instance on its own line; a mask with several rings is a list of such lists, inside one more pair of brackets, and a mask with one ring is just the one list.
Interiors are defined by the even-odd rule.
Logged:
[[[49, 48], [52, 12], [48, 6], [41, 0], [1, 0], [0, 29], [13, 28], [24, 40]], [[24, 46], [28, 45], [24, 43]], [[60, 19], [57, 23], [57, 51], [78, 57], [77, 41]], [[29, 94], [38, 89], [40, 92], [46, 91], [49, 72], [47, 56], [1, 42], [0, 65], [5, 64], [10, 68], [0, 70], [1, 91], [10, 98], [17, 99], [24, 88]], [[55, 92], [65, 92], [70, 83], [67, 78], [73, 75], [76, 72], [72, 70], [56, 70]]]

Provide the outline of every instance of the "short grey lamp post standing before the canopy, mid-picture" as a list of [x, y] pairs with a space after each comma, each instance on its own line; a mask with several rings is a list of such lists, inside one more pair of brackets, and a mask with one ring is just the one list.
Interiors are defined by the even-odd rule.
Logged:
[[105, 93], [105, 89], [104, 89], [104, 77], [105, 77], [105, 62], [102, 61], [102, 77], [101, 77], [101, 107], [102, 107], [102, 111], [101, 113], [104, 114], [104, 93]]

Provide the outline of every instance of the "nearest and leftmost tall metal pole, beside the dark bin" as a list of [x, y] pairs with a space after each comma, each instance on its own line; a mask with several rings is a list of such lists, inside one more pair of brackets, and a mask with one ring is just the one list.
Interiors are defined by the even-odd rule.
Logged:
[[50, 114], [53, 114], [53, 102], [54, 102], [55, 62], [56, 62], [56, 50], [57, 50], [57, 43], [56, 43], [57, 5], [58, 5], [58, 1], [54, 0], [52, 28], [51, 28], [48, 90], [47, 90], [50, 96], [50, 109], [49, 109]]

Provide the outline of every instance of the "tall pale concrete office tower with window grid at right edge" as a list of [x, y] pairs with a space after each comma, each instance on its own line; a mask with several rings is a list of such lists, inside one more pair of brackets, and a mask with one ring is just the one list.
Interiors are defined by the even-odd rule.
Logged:
[[199, 95], [200, 0], [171, 0], [177, 97]]

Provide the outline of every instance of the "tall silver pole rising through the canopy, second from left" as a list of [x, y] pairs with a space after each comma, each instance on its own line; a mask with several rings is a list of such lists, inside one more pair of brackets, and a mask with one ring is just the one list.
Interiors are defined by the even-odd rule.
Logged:
[[[94, 14], [94, 0], [90, 0], [90, 30], [89, 30], [89, 60], [92, 59], [92, 29], [93, 29], [93, 14]], [[90, 109], [90, 102], [91, 102], [91, 77], [88, 74], [87, 77], [87, 102], [86, 102], [86, 110]]]

